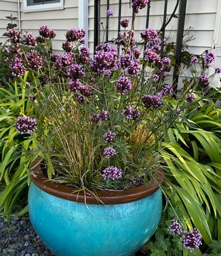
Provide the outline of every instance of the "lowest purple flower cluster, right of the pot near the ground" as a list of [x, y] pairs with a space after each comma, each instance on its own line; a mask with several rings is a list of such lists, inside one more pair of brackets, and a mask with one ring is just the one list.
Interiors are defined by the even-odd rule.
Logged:
[[190, 251], [199, 248], [202, 244], [202, 236], [198, 229], [184, 231], [184, 236], [180, 240], [184, 244], [184, 247]]

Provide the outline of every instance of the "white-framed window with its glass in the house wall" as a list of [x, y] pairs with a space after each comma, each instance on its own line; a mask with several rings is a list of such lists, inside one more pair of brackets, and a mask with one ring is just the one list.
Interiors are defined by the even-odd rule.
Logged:
[[63, 9], [64, 0], [23, 0], [24, 12]]

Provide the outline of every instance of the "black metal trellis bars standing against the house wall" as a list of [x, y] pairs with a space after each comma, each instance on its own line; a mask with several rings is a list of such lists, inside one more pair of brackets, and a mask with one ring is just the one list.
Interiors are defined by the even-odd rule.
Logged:
[[[149, 25], [149, 18], [150, 18], [150, 7], [151, 7], [151, 1], [148, 1], [148, 5], [146, 8], [146, 28], [148, 28]], [[167, 16], [167, 6], [168, 6], [168, 0], [164, 0], [164, 9], [163, 9], [163, 24], [159, 32], [161, 33], [161, 37], [165, 38], [165, 29], [169, 22], [172, 20], [172, 18], [176, 17], [178, 18], [178, 28], [177, 28], [177, 34], [176, 34], [176, 65], [174, 67], [174, 89], [176, 90], [177, 84], [178, 84], [178, 69], [180, 67], [180, 56], [182, 52], [182, 39], [183, 39], [183, 33], [184, 33], [184, 22], [185, 22], [185, 16], [186, 16], [186, 2], [187, 0], [177, 0], [176, 5], [174, 7], [174, 11], [172, 14], [168, 17]], [[130, 2], [130, 1], [129, 1]], [[130, 4], [130, 3], [129, 3]], [[117, 36], [116, 38], [119, 38], [119, 32], [121, 31], [121, 6], [122, 1], [119, 0], [119, 13], [118, 13], [118, 26], [117, 26]], [[175, 16], [176, 10], [179, 7], [178, 17]], [[106, 10], [108, 10], [110, 7], [110, 1], [106, 0]], [[132, 11], [132, 20], [134, 20], [134, 12]], [[106, 42], [114, 42], [115, 39], [109, 39], [109, 17], [106, 17]], [[145, 29], [145, 28], [144, 28]], [[94, 0], [94, 50], [96, 46], [100, 44], [100, 0]], [[163, 48], [161, 48], [161, 54], [163, 53]]]

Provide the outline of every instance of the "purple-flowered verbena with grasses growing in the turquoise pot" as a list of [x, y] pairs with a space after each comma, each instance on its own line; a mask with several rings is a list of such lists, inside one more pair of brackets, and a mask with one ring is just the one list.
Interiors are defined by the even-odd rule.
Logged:
[[[136, 16], [147, 3], [132, 1]], [[113, 16], [113, 11], [106, 14]], [[121, 26], [115, 45], [103, 43], [94, 54], [85, 46], [84, 29], [66, 31], [64, 54], [50, 54], [56, 32], [47, 25], [37, 37], [7, 31], [12, 76], [22, 82], [28, 72], [34, 93], [29, 99], [37, 116], [18, 116], [16, 128], [33, 133], [35, 153], [39, 150], [48, 178], [79, 190], [147, 183], [160, 168], [163, 135], [199, 100], [195, 89], [209, 86], [205, 72], [214, 52], [191, 59], [193, 67], [202, 59], [206, 65], [175, 99], [167, 82], [172, 61], [160, 54], [165, 46], [161, 34], [141, 31], [138, 49], [134, 21], [125, 18]], [[219, 72], [219, 67], [214, 69], [214, 74]]]

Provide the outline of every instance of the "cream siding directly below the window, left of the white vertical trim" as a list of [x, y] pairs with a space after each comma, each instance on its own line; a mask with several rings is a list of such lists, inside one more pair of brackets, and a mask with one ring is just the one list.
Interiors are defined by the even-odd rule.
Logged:
[[49, 25], [56, 31], [56, 37], [52, 40], [53, 49], [56, 52], [62, 50], [62, 42], [65, 40], [65, 32], [71, 27], [78, 27], [78, 1], [64, 0], [63, 10], [44, 10], [37, 12], [24, 12], [23, 3], [20, 3], [22, 32], [32, 31], [38, 34], [41, 25]]

